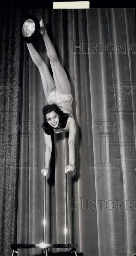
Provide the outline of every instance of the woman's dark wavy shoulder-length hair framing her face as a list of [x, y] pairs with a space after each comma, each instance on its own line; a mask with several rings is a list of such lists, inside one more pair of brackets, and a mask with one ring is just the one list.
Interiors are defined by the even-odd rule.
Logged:
[[46, 119], [46, 114], [50, 113], [51, 111], [55, 111], [55, 113], [57, 113], [59, 115], [59, 127], [60, 128], [65, 128], [66, 127], [66, 123], [67, 123], [67, 119], [69, 117], [69, 114], [64, 113], [63, 111], [61, 111], [61, 109], [56, 105], [56, 104], [51, 104], [51, 105], [47, 105], [44, 106], [42, 109], [42, 113], [43, 113], [43, 124], [42, 124], [42, 128], [44, 130], [44, 132], [46, 134], [51, 134], [53, 133], [53, 127], [51, 127]]

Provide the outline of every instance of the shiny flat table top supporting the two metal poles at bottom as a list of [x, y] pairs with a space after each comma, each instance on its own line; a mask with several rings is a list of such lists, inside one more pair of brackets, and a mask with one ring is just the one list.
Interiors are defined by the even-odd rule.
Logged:
[[13, 250], [16, 249], [31, 249], [31, 248], [77, 248], [77, 243], [58, 243], [58, 244], [52, 244], [52, 243], [36, 243], [36, 244], [11, 244], [11, 248]]

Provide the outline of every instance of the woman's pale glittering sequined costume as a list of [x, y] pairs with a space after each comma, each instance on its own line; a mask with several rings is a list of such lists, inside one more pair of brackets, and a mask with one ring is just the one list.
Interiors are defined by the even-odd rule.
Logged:
[[[72, 110], [72, 101], [73, 101], [73, 97], [72, 94], [66, 94], [63, 92], [60, 92], [58, 90], [53, 90], [48, 98], [47, 98], [47, 102], [49, 105], [51, 104], [56, 104], [58, 105], [58, 107], [64, 112], [64, 113], [68, 113], [72, 118], [74, 118], [73, 116], [73, 110]], [[67, 130], [65, 130], [67, 131]], [[60, 133], [63, 131], [59, 131], [55, 133]]]

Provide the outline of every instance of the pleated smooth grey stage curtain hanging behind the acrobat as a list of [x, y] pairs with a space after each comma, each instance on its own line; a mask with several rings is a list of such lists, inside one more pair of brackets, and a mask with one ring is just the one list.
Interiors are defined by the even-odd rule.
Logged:
[[[18, 29], [23, 15], [36, 12], [45, 21], [49, 37], [69, 77], [73, 95], [77, 133], [75, 170], [67, 174], [67, 243], [78, 243], [79, 255], [132, 255], [135, 253], [136, 208], [134, 9], [11, 11], [13, 16], [19, 13]], [[19, 44], [18, 30], [15, 35]], [[10, 37], [8, 40], [10, 42]], [[52, 72], [42, 37], [34, 46]], [[4, 47], [2, 45], [2, 49]], [[20, 122], [18, 128], [14, 127], [14, 136], [19, 141], [19, 148], [16, 146], [19, 165], [11, 177], [6, 172], [7, 167], [3, 166], [5, 183], [2, 182], [1, 198], [5, 208], [1, 218], [10, 212], [8, 206], [12, 207], [17, 242], [41, 243], [43, 176], [40, 170], [44, 167], [45, 154], [41, 109], [47, 101], [39, 70], [33, 64], [26, 44], [21, 42], [16, 54], [8, 55], [8, 65], [11, 59], [14, 63], [15, 56], [18, 56], [16, 66], [20, 71], [14, 70], [13, 74], [20, 74], [17, 81], [21, 83], [21, 112], [20, 116], [15, 115]], [[7, 72], [10, 67], [1, 69]], [[8, 79], [12, 76], [14, 81], [16, 76], [13, 74], [10, 73]], [[9, 117], [8, 122], [11, 122]], [[1, 122], [2, 127], [5, 123]], [[12, 141], [11, 135], [8, 138]], [[69, 163], [68, 134], [53, 135], [52, 143], [50, 172], [46, 178], [46, 243], [64, 243], [64, 168]], [[9, 151], [11, 156], [16, 155], [12, 150], [13, 147]], [[4, 152], [2, 146], [1, 152]], [[14, 198], [6, 185], [4, 187], [8, 180], [15, 182], [13, 175], [17, 180], [11, 187]], [[17, 189], [18, 212], [17, 205], [14, 208], [12, 200], [9, 203], [4, 194], [8, 191], [10, 198], [17, 200]], [[11, 217], [8, 223], [3, 219], [5, 227], [11, 228]], [[6, 228], [2, 230], [4, 238], [8, 231]], [[11, 231], [8, 246], [10, 241], [13, 242], [13, 236], [14, 242], [16, 240], [15, 230]], [[39, 249], [19, 250], [19, 255], [40, 253]], [[66, 250], [51, 253], [65, 255]]]

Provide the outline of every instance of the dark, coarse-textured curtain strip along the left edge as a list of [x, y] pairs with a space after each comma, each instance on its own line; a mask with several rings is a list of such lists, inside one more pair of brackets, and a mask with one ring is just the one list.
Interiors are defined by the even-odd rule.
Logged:
[[19, 10], [0, 10], [0, 251], [17, 242], [18, 130], [21, 97]]

